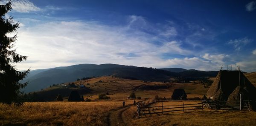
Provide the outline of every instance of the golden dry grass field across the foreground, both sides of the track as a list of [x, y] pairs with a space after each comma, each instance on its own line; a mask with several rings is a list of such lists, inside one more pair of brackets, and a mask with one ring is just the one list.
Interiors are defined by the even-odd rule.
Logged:
[[[182, 103], [198, 103], [200, 101], [165, 102], [164, 105]], [[185, 112], [169, 112], [152, 114], [135, 118], [136, 106], [129, 106], [133, 100], [126, 100], [128, 105], [124, 111], [122, 101], [97, 102], [49, 102], [25, 103], [14, 107], [0, 105], [0, 125], [9, 126], [254, 126], [256, 112], [248, 111], [215, 111], [204, 109]], [[155, 103], [158, 106], [161, 103]], [[121, 118], [122, 123], [109, 123], [110, 112]], [[112, 117], [112, 116], [110, 116]], [[116, 120], [118, 121], [118, 119]]]

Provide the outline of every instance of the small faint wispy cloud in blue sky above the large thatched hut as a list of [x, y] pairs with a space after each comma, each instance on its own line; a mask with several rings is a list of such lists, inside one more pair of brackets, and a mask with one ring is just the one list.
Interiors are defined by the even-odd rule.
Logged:
[[246, 44], [252, 42], [251, 39], [248, 39], [247, 37], [235, 39], [235, 40], [229, 40], [227, 44], [233, 45], [233, 47], [236, 49], [236, 51], [239, 51], [241, 47], [245, 46]]

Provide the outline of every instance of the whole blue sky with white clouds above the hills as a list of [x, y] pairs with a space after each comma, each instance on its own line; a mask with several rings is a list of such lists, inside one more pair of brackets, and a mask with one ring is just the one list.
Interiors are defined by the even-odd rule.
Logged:
[[[1, 0], [0, 4], [5, 4]], [[16, 69], [114, 63], [256, 72], [256, 0], [12, 0]]]

